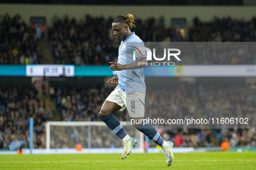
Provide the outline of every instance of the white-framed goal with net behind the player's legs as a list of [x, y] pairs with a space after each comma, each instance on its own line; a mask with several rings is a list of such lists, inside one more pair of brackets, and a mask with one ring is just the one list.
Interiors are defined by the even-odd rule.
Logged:
[[[136, 152], [144, 151], [144, 134], [130, 123], [120, 122], [127, 134], [137, 139]], [[46, 153], [51, 149], [75, 148], [80, 144], [83, 150], [99, 150], [101, 153], [123, 151], [122, 140], [115, 135], [104, 122], [55, 122], [45, 123]]]

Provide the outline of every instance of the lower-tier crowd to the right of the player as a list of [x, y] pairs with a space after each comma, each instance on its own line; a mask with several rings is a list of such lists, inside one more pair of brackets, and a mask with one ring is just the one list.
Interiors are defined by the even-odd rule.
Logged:
[[[247, 117], [250, 121], [256, 118], [255, 99], [256, 95], [245, 93], [242, 86], [226, 87], [179, 82], [171, 91], [148, 87], [145, 115], [152, 119], [164, 120], [170, 118], [184, 120], [185, 117], [194, 119], [211, 117], [214, 120], [222, 117]], [[254, 147], [256, 129], [248, 129], [248, 127], [255, 126], [255, 123], [250, 121], [249, 124], [250, 126], [245, 129], [218, 125], [212, 128], [221, 127], [221, 129], [166, 128], [162, 132], [165, 133], [163, 136], [167, 140], [175, 141], [176, 146], [181, 147], [218, 146], [224, 140], [232, 143], [233, 147], [241, 145]], [[194, 126], [194, 128], [199, 128], [199, 126]]]

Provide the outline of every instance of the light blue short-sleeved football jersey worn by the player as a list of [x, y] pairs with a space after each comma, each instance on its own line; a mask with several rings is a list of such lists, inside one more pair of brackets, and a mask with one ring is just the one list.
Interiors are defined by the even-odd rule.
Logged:
[[[145, 47], [145, 45], [143, 41], [132, 32], [119, 46], [117, 63], [122, 65], [130, 64], [146, 57], [146, 50], [139, 50], [139, 47]], [[121, 88], [126, 93], [138, 91], [146, 94], [143, 68], [117, 71], [117, 76], [117, 88]]]

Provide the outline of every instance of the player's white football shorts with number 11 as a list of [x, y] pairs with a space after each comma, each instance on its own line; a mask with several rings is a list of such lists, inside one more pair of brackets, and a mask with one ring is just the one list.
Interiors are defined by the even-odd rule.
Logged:
[[145, 95], [142, 92], [125, 93], [121, 88], [115, 88], [106, 101], [118, 104], [120, 110], [128, 111], [130, 117], [144, 117]]

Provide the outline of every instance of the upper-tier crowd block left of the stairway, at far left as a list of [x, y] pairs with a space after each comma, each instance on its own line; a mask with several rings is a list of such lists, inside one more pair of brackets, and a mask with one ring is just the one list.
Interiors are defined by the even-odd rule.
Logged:
[[42, 64], [36, 29], [19, 14], [0, 15], [0, 64]]

